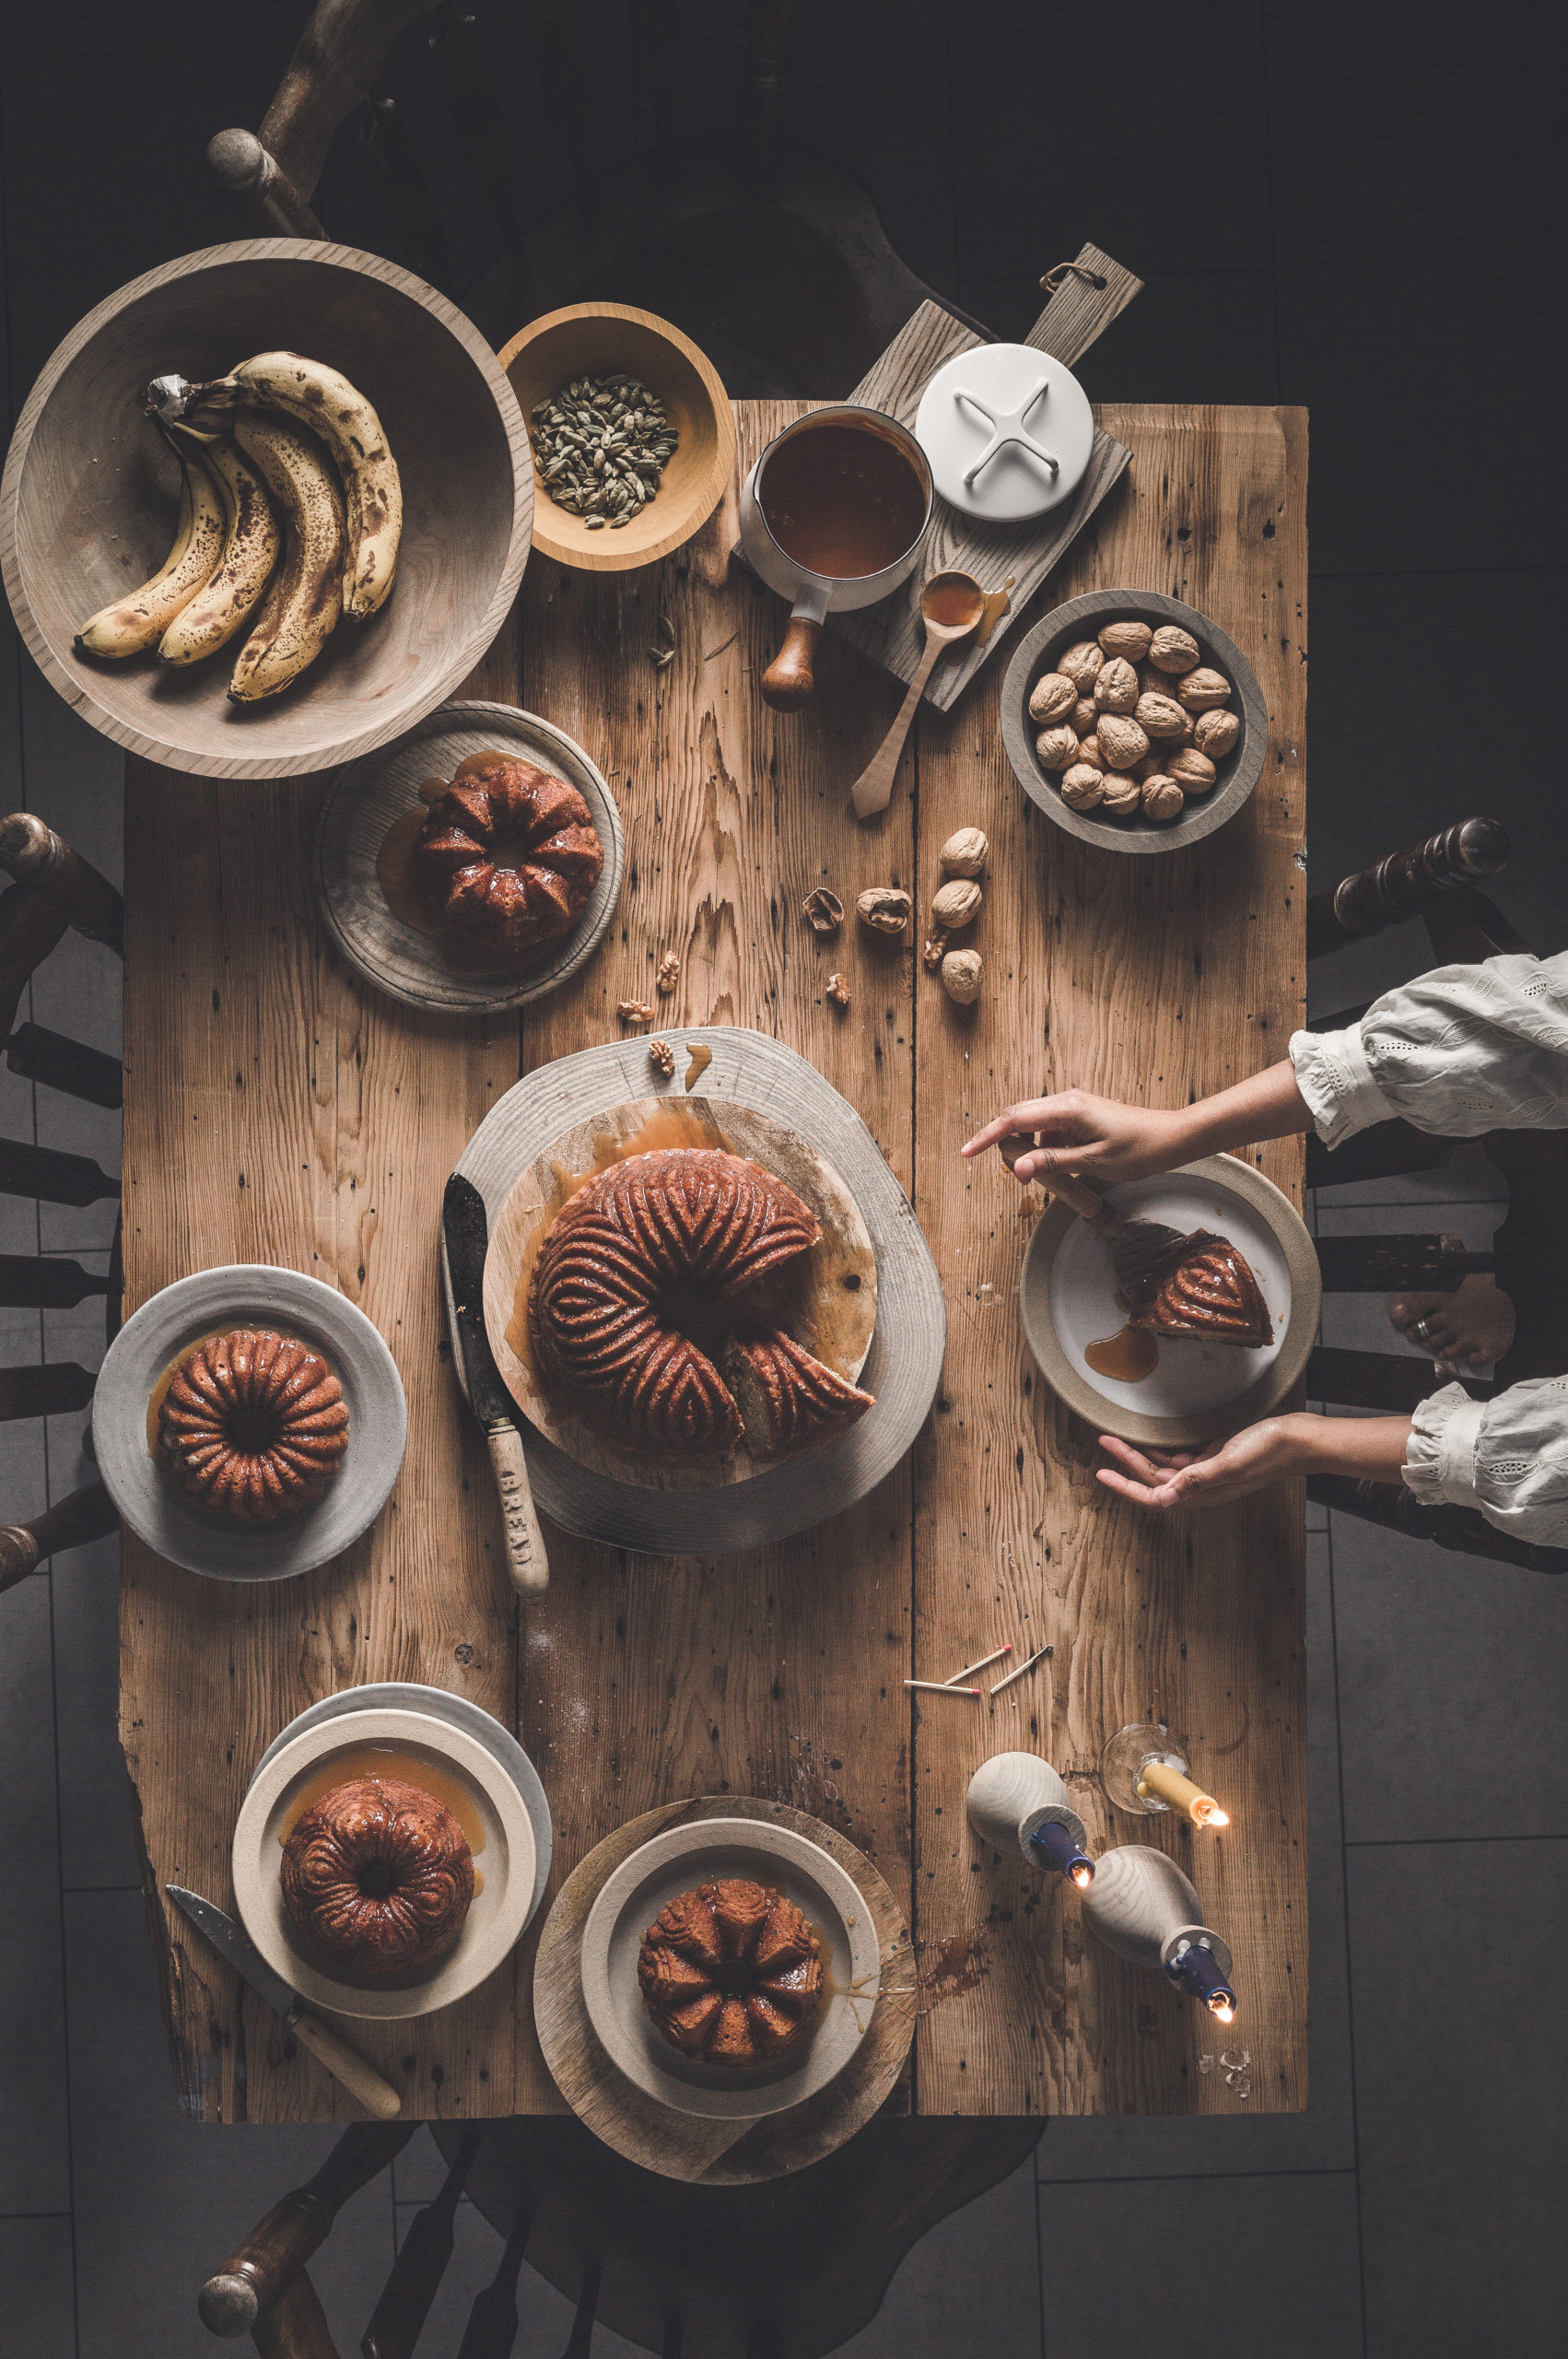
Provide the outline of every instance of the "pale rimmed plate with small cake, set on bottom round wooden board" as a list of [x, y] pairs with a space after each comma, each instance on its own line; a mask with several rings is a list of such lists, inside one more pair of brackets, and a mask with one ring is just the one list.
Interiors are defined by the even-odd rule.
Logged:
[[[806, 2045], [776, 2064], [731, 2069], [684, 2057], [648, 2022], [637, 1951], [677, 1894], [719, 1875], [747, 1875], [811, 1920], [823, 1944], [828, 1996]], [[865, 2038], [877, 2005], [882, 1951], [854, 1880], [837, 1859], [785, 1826], [703, 1819], [672, 1826], [615, 1868], [582, 1927], [582, 2003], [620, 2071], [658, 2104], [714, 2121], [759, 2121], [825, 2088]]]

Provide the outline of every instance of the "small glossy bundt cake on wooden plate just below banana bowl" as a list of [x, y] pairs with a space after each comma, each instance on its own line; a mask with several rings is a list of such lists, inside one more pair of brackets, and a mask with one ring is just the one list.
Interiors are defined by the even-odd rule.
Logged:
[[502, 753], [457, 764], [415, 845], [415, 875], [443, 934], [465, 960], [509, 974], [578, 922], [601, 868], [578, 788]]

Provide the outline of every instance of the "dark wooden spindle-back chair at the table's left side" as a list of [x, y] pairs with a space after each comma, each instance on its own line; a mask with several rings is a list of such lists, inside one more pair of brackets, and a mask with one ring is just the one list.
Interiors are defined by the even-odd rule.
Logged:
[[[0, 819], [0, 868], [17, 882], [0, 894], [0, 1047], [14, 1073], [85, 1097], [94, 1106], [120, 1104], [120, 1064], [101, 1050], [68, 1040], [42, 1024], [19, 1024], [21, 993], [68, 929], [125, 955], [125, 906], [108, 878], [99, 875], [54, 828], [31, 811]], [[57, 1154], [24, 1139], [0, 1139], [0, 1191], [42, 1196], [47, 1203], [97, 1203], [118, 1196], [120, 1182], [90, 1156]], [[94, 1276], [64, 1255], [0, 1255], [0, 1302], [33, 1309], [71, 1309], [85, 1295], [104, 1295], [106, 1330], [120, 1323], [120, 1231], [108, 1255], [108, 1274]], [[50, 1418], [85, 1408], [92, 1375], [73, 1361], [52, 1368], [0, 1371], [0, 1420]], [[0, 1526], [0, 1590], [24, 1581], [50, 1555], [99, 1540], [116, 1529], [116, 1512], [101, 1484], [87, 1484], [26, 1524]]]

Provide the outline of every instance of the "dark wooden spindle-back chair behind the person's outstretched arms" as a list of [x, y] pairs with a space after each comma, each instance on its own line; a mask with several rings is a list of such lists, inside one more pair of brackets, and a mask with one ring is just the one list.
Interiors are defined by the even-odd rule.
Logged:
[[[1320, 958], [1346, 941], [1379, 934], [1405, 918], [1422, 918], [1438, 965], [1474, 962], [1504, 951], [1528, 951], [1502, 911], [1476, 892], [1509, 859], [1509, 837], [1495, 819], [1464, 819], [1422, 845], [1394, 852], [1372, 868], [1346, 875], [1306, 908], [1306, 955]], [[1313, 1019], [1316, 1031], [1342, 1031], [1365, 1014], [1344, 1007]], [[1568, 1236], [1561, 1208], [1568, 1203], [1568, 1137], [1561, 1130], [1493, 1130], [1483, 1137], [1490, 1163], [1509, 1182], [1509, 1210], [1490, 1253], [1467, 1253], [1455, 1236], [1353, 1236], [1318, 1238], [1323, 1286], [1330, 1293], [1450, 1293], [1471, 1269], [1490, 1269], [1514, 1302], [1516, 1333], [1490, 1382], [1464, 1378], [1471, 1399], [1490, 1399], [1528, 1375], [1568, 1371]], [[1434, 1170], [1452, 1151], [1410, 1123], [1389, 1121], [1363, 1130], [1344, 1146], [1306, 1142], [1311, 1189], [1353, 1187]], [[1436, 1389], [1431, 1364], [1396, 1352], [1342, 1352], [1318, 1347], [1306, 1366], [1306, 1394], [1349, 1408], [1408, 1413]], [[1356, 1514], [1389, 1531], [1436, 1540], [1464, 1555], [1533, 1571], [1566, 1571], [1568, 1550], [1537, 1548], [1497, 1531], [1469, 1507], [1422, 1507], [1396, 1484], [1363, 1484], [1339, 1474], [1313, 1474], [1309, 1498]]]

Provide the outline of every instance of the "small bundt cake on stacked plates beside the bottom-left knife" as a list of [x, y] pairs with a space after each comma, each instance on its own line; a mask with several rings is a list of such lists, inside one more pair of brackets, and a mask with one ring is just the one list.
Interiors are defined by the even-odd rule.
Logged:
[[474, 1854], [446, 1802], [396, 1776], [323, 1793], [283, 1845], [283, 1906], [335, 1972], [401, 1974], [441, 1958], [474, 1899]]

